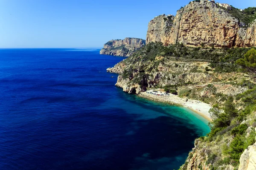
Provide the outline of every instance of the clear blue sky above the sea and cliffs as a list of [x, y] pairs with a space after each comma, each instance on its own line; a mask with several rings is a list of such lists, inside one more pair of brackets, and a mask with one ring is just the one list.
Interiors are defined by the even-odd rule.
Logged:
[[[112, 39], [145, 39], [148, 22], [190, 0], [0, 0], [0, 48], [102, 48]], [[236, 8], [255, 0], [216, 0]]]

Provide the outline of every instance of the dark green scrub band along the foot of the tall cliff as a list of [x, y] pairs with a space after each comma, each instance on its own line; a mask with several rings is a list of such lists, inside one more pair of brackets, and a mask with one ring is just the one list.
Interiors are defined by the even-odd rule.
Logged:
[[[134, 57], [127, 59], [127, 62], [135, 63], [141, 61], [154, 61], [157, 56], [163, 56], [165, 59], [175, 57], [176, 59], [192, 59], [197, 61], [210, 62], [210, 67], [215, 68], [215, 72], [234, 72], [239, 71], [236, 60], [244, 58], [244, 54], [250, 49], [255, 48], [200, 48], [186, 47], [183, 44], [164, 46], [161, 42], [151, 42], [145, 45], [140, 51], [134, 54]], [[131, 61], [135, 58], [135, 61]], [[154, 68], [159, 65], [156, 61]], [[177, 67], [178, 65], [175, 65]], [[208, 68], [209, 69], [209, 68]], [[209, 71], [207, 69], [207, 71]]]

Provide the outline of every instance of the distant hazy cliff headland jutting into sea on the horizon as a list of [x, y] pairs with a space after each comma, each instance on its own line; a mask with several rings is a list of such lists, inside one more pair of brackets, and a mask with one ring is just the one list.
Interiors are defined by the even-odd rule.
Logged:
[[100, 54], [128, 57], [134, 51], [145, 45], [145, 40], [139, 38], [125, 38], [125, 40], [111, 40], [104, 44]]

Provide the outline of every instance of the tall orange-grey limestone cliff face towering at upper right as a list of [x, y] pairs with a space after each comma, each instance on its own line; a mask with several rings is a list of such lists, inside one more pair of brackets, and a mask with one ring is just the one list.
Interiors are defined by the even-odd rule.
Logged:
[[171, 20], [165, 18], [160, 15], [149, 22], [147, 43], [229, 48], [256, 46], [256, 21], [248, 28], [241, 28], [239, 20], [229, 11], [210, 1], [192, 1], [178, 10]]

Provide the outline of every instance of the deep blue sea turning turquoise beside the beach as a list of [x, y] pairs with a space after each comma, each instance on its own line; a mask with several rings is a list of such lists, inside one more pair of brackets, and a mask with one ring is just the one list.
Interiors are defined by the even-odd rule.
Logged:
[[173, 170], [209, 132], [126, 94], [99, 49], [0, 49], [0, 170]]

